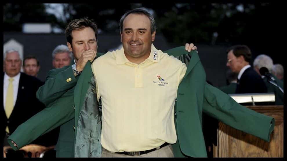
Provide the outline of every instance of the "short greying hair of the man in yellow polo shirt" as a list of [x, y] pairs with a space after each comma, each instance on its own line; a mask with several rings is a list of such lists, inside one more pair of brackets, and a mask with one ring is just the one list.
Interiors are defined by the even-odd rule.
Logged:
[[146, 8], [141, 7], [141, 8], [136, 8], [136, 9], [130, 10], [130, 11], [126, 12], [123, 16], [121, 16], [121, 19], [120, 19], [120, 22], [119, 22], [121, 33], [123, 33], [123, 20], [129, 14], [144, 14], [144, 15], [146, 15], [150, 19], [150, 31], [151, 31], [151, 34], [156, 31], [157, 27], [155, 25], [155, 19], [152, 17], [152, 14], [150, 14], [146, 10]]

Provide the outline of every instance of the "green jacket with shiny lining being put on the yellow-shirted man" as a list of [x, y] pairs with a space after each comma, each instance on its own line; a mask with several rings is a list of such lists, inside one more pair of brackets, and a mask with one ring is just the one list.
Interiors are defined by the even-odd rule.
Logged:
[[[224, 92], [207, 84], [206, 75], [196, 51], [188, 53], [184, 47], [178, 47], [168, 50], [166, 53], [174, 56], [191, 54], [186, 75], [179, 84], [177, 91], [177, 103], [175, 104], [177, 143], [172, 145], [175, 157], [185, 157], [185, 155], [207, 157], [202, 134], [202, 112], [236, 129], [255, 135], [266, 141], [270, 140], [270, 134], [274, 129], [275, 120], [239, 105]], [[90, 62], [88, 62], [79, 76], [74, 90], [75, 146], [73, 146], [73, 148], [75, 148], [75, 150], [73, 151], [75, 157], [99, 157], [101, 154], [99, 140], [101, 134], [100, 110], [99, 108], [87, 108], [91, 106], [92, 103], [97, 107], [97, 101], [93, 100], [93, 98], [97, 98], [95, 97], [95, 84], [93, 80]], [[59, 113], [59, 110], [54, 111], [55, 113]], [[61, 111], [65, 111], [65, 114], [60, 115], [65, 116], [70, 116], [69, 114], [74, 112], [70, 107], [65, 108], [65, 110], [62, 109]], [[35, 116], [38, 117], [37, 120], [39, 121], [41, 117], [37, 115]], [[53, 119], [58, 120], [58, 122], [66, 122], [71, 118], [54, 117]], [[52, 125], [49, 122], [45, 123], [45, 129], [52, 129]], [[57, 125], [59, 126], [61, 124]], [[19, 127], [21, 126], [24, 125], [20, 125]], [[41, 135], [43, 134], [43, 129], [44, 128], [37, 129], [35, 133]], [[21, 133], [21, 128], [20, 130], [16, 129], [15, 132]], [[25, 132], [22, 133], [25, 134]], [[14, 140], [16, 138], [13, 134], [9, 139]], [[27, 139], [25, 138], [23, 140], [23, 142], [25, 142]]]

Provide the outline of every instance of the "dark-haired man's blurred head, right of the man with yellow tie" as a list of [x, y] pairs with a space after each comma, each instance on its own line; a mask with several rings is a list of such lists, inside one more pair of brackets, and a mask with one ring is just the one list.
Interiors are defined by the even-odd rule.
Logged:
[[29, 55], [24, 58], [23, 71], [27, 75], [37, 77], [40, 70], [39, 60], [34, 55]]

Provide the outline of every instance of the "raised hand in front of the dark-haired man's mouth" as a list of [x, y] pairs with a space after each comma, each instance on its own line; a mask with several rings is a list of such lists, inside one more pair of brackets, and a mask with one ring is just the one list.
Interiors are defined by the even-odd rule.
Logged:
[[92, 50], [92, 49], [83, 52], [83, 54], [81, 55], [81, 57], [79, 58], [79, 60], [76, 63], [77, 70], [79, 72], [83, 71], [87, 62], [89, 60], [90, 60], [90, 62], [92, 62], [96, 56], [97, 56], [97, 52]]

